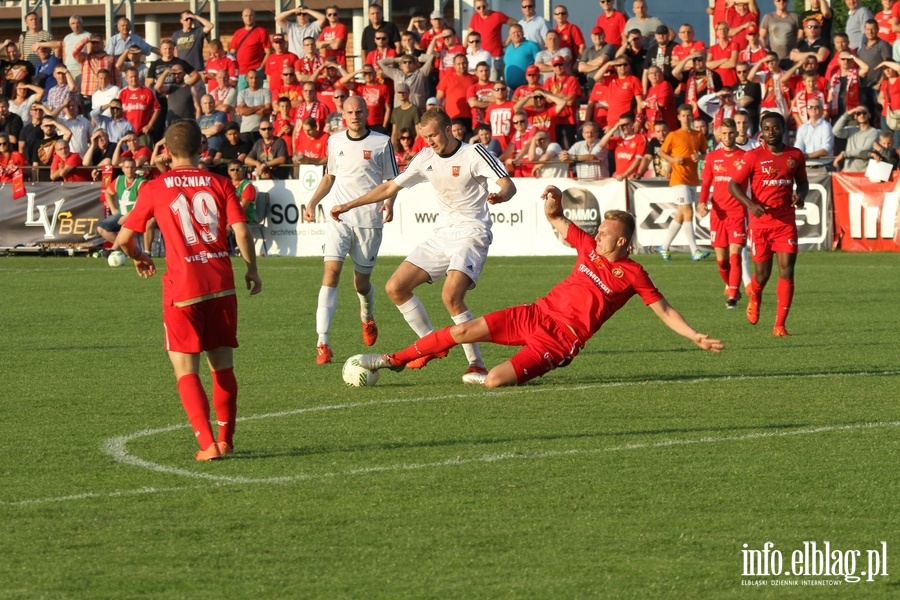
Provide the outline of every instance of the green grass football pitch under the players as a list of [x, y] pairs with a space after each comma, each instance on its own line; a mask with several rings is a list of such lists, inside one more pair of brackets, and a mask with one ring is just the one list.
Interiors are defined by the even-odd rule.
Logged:
[[[786, 339], [774, 280], [751, 327], [712, 261], [639, 260], [721, 355], [633, 299], [569, 367], [490, 392], [461, 384], [460, 349], [346, 387], [341, 364], [366, 351], [349, 273], [335, 362], [317, 366], [321, 261], [263, 259], [262, 295], [240, 296], [237, 453], [203, 464], [159, 277], [0, 260], [0, 597], [896, 597], [897, 256], [801, 255]], [[413, 339], [382, 290], [397, 263], [374, 275], [374, 351]], [[571, 266], [492, 258], [470, 307], [531, 300]], [[439, 287], [420, 291], [448, 323]], [[514, 351], [482, 348], [489, 365]], [[119, 447], [157, 470], [110, 453], [141, 431]], [[863, 550], [857, 574], [886, 541], [890, 577], [742, 587], [743, 544], [772, 541], [789, 567], [826, 540]]]

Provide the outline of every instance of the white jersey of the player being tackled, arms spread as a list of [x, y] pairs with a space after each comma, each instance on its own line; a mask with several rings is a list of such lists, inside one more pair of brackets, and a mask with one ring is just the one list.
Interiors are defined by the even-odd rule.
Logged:
[[438, 198], [439, 227], [490, 229], [487, 182], [504, 177], [509, 177], [509, 173], [486, 148], [460, 143], [449, 156], [439, 156], [431, 148], [422, 149], [394, 183], [409, 188], [430, 182]]

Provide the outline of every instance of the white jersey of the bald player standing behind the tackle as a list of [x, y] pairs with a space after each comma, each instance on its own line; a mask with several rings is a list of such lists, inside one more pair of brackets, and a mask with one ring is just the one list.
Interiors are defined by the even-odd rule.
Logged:
[[[354, 139], [349, 131], [328, 138], [326, 173], [334, 175], [331, 191], [322, 199], [327, 215], [336, 204], [355, 200], [397, 176], [397, 158], [391, 138], [369, 131]], [[341, 215], [341, 221], [353, 227], [382, 227], [381, 202], [367, 204]]]

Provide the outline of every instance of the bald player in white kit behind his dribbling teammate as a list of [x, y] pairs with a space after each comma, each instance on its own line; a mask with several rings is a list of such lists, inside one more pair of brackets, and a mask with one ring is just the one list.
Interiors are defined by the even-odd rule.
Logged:
[[[330, 212], [335, 205], [358, 198], [397, 176], [391, 138], [368, 129], [367, 114], [366, 104], [360, 97], [353, 96], [344, 101], [347, 130], [328, 139], [325, 175], [306, 206], [304, 220], [315, 221], [320, 202], [325, 211]], [[353, 261], [353, 285], [359, 296], [363, 342], [371, 346], [378, 338], [375, 296], [370, 279], [381, 247], [383, 225], [393, 218], [393, 204], [394, 196], [390, 196], [384, 202], [350, 211], [342, 222], [328, 219], [325, 224], [325, 272], [316, 308], [317, 364], [329, 363], [334, 356], [328, 330], [337, 309], [337, 285], [347, 255]]]

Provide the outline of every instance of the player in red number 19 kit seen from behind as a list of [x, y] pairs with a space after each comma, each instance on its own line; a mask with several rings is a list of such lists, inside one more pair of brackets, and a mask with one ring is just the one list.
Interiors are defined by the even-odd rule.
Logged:
[[[166, 131], [171, 169], [141, 188], [116, 243], [134, 259], [139, 276], [156, 273], [147, 252], [137, 249], [135, 236], [147, 221], [166, 239], [163, 275], [163, 328], [166, 350], [178, 381], [178, 395], [200, 450], [197, 460], [213, 460], [233, 452], [237, 417], [237, 300], [228, 252], [228, 228], [234, 232], [247, 263], [244, 280], [251, 294], [262, 290], [256, 271], [253, 236], [234, 185], [226, 177], [197, 168], [200, 127], [181, 119]], [[170, 259], [170, 260], [169, 260]], [[212, 371], [213, 406], [220, 423], [218, 442], [209, 424], [209, 400], [200, 382], [200, 353]]]

